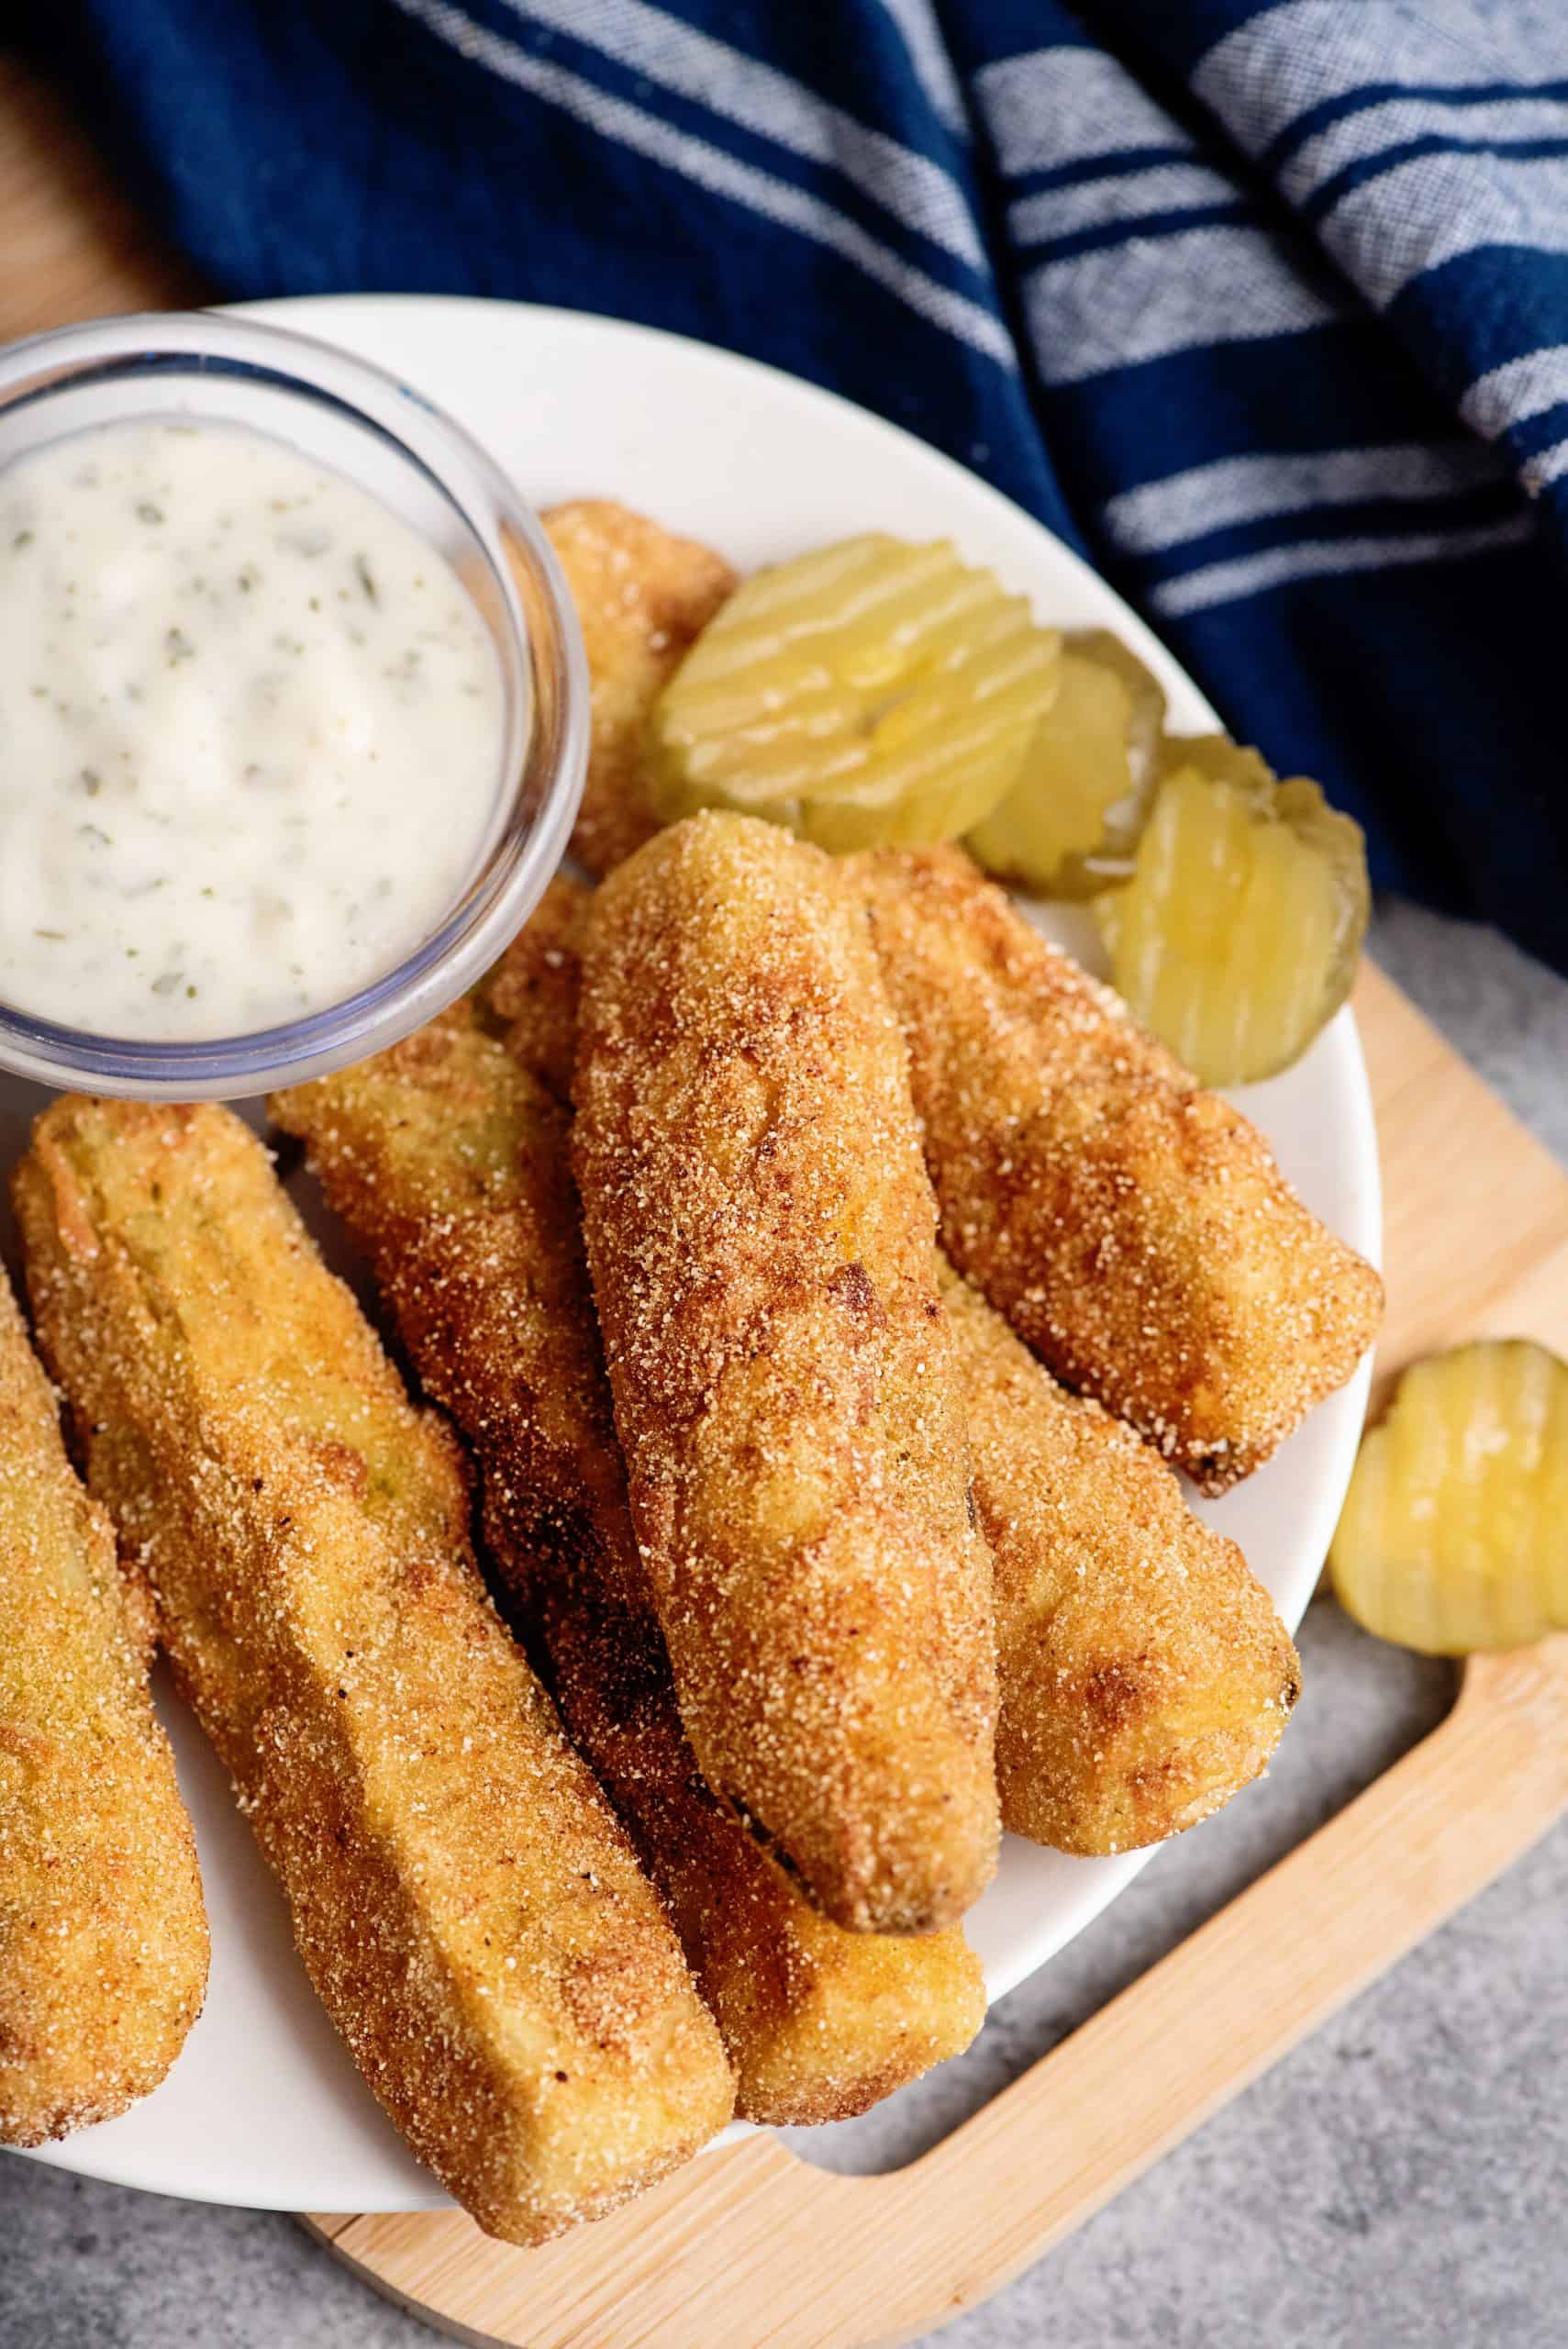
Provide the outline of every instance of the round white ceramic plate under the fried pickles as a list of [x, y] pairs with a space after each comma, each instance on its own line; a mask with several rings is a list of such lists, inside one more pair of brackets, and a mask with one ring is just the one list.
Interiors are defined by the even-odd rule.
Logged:
[[[1178, 731], [1214, 714], [1148, 630], [1056, 538], [922, 442], [826, 392], [699, 343], [514, 303], [329, 298], [261, 317], [338, 341], [427, 392], [547, 505], [610, 496], [711, 540], [739, 568], [850, 531], [951, 536], [1028, 592], [1042, 620], [1120, 630], [1160, 674]], [[1056, 935], [1084, 947], [1082, 928]], [[0, 1078], [0, 1163], [42, 1095]], [[1340, 1012], [1289, 1076], [1246, 1109], [1307, 1203], [1364, 1254], [1378, 1250], [1378, 1158], [1366, 1071]], [[1204, 1503], [1246, 1550], [1293, 1626], [1345, 1494], [1366, 1374], [1239, 1492]], [[439, 2208], [322, 2015], [284, 1905], [183, 1708], [162, 1696], [197, 1828], [211, 1914], [211, 1987], [174, 2072], [117, 2121], [38, 2159], [200, 2201], [303, 2210]], [[1242, 1797], [1249, 1799], [1249, 1797]], [[1202, 1830], [1197, 1830], [1202, 1832]], [[1143, 1856], [1070, 1860], [1007, 1839], [969, 1917], [1000, 1997], [1045, 1964], [1136, 1875]], [[1176, 1853], [1171, 1865], [1181, 1865]]]

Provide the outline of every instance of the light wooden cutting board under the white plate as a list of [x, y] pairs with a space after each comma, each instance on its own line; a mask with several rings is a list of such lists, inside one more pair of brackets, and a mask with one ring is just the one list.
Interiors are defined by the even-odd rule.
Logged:
[[[202, 301], [0, 59], [0, 341]], [[1568, 1177], [1378, 970], [1385, 1381], [1460, 1337], [1568, 1351]], [[1376, 1398], [1373, 1398], [1376, 1402]], [[1568, 1806], [1568, 1637], [1467, 1665], [1448, 1719], [920, 2161], [836, 2178], [758, 2133], [512, 2250], [460, 2213], [310, 2217], [366, 2283], [514, 2349], [864, 2349], [974, 2307], [1509, 1865]], [[1303, 1933], [1303, 1917], [1312, 1931]]]

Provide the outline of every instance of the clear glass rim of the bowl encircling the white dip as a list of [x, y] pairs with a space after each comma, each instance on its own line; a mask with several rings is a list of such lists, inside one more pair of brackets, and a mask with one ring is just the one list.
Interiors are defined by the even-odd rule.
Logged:
[[[23, 402], [80, 390], [99, 373], [256, 371], [279, 390], [326, 404], [376, 435], [434, 482], [472, 531], [491, 568], [502, 613], [502, 660], [530, 677], [533, 726], [516, 761], [495, 846], [446, 921], [394, 968], [319, 1012], [244, 1036], [157, 1043], [59, 1027], [0, 1003], [0, 1069], [59, 1090], [143, 1099], [237, 1099], [326, 1076], [369, 1059], [434, 1019], [505, 954], [566, 855], [589, 742], [589, 677], [577, 613], [554, 550], [488, 449], [399, 376], [336, 343], [291, 327], [214, 310], [153, 310], [89, 319], [26, 336], [0, 350], [0, 423]], [[181, 366], [178, 362], [190, 362]], [[153, 409], [155, 402], [148, 402]], [[418, 432], [423, 449], [404, 432]], [[282, 437], [282, 435], [279, 435]], [[2, 458], [0, 458], [2, 463]], [[495, 521], [455, 486], [469, 472]], [[528, 580], [528, 615], [500, 545], [512, 538]], [[519, 810], [535, 813], [519, 832]]]

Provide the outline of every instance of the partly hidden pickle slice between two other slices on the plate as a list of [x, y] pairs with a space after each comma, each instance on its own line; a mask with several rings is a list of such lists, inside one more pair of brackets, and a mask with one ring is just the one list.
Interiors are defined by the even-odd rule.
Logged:
[[1061, 691], [1007, 799], [969, 834], [986, 871], [1089, 897], [1131, 871], [1160, 773], [1164, 693], [1106, 627], [1063, 639]]

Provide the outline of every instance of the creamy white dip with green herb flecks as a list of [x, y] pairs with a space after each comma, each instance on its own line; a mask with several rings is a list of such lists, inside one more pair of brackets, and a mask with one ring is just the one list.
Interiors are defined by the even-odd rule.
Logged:
[[0, 1001], [242, 1036], [392, 970], [472, 879], [500, 662], [366, 491], [235, 425], [0, 472]]

